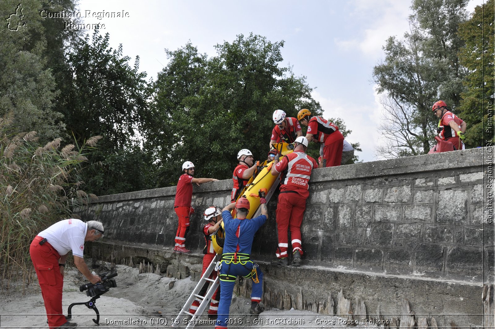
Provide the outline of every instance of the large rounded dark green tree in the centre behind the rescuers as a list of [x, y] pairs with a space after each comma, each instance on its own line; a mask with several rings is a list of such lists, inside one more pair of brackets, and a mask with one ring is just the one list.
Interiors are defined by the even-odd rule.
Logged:
[[191, 43], [166, 51], [170, 61], [154, 84], [145, 141], [157, 159], [158, 186], [175, 185], [187, 160], [197, 176], [226, 179], [239, 150], [265, 159], [274, 110], [321, 114], [305, 77], [280, 66], [283, 45], [250, 34], [216, 45], [211, 58]]

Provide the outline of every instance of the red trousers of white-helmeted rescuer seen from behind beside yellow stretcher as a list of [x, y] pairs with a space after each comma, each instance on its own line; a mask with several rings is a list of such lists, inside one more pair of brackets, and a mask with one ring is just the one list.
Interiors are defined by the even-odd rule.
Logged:
[[278, 252], [277, 258], [288, 257], [287, 249], [289, 247], [289, 238], [287, 230], [291, 231], [292, 252], [301, 248], [301, 223], [304, 210], [306, 209], [306, 199], [299, 193], [280, 192], [277, 204], [277, 233], [278, 233]]

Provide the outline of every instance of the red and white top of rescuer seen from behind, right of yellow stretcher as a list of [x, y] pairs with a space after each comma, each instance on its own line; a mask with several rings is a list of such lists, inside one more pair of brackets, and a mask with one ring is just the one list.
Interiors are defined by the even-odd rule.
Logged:
[[289, 153], [275, 165], [275, 170], [282, 173], [280, 191], [296, 191], [303, 198], [309, 197], [309, 176], [311, 170], [317, 167], [316, 160], [304, 152]]

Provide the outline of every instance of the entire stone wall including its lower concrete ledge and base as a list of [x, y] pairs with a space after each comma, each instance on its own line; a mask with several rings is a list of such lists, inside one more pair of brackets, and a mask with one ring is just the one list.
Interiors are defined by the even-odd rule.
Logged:
[[[482, 286], [494, 280], [494, 229], [488, 220], [493, 212], [484, 207], [493, 191], [484, 181], [489, 151], [314, 170], [301, 226], [303, 266], [269, 265], [277, 246], [275, 197], [254, 238], [252, 258], [264, 273], [263, 301], [268, 307], [335, 314], [342, 292], [354, 313], [363, 301], [370, 318], [385, 314], [397, 320], [394, 315], [404, 313], [401, 304], [407, 300], [413, 312], [431, 315], [439, 326], [482, 326]], [[231, 188], [232, 180], [194, 186], [197, 211], [188, 255], [172, 252], [175, 187], [99, 197], [78, 210], [83, 219], [105, 226], [105, 238], [93, 243], [89, 254], [117, 264], [149, 262], [163, 275], [197, 280], [202, 213], [211, 205], [227, 205]], [[239, 294], [249, 294], [247, 281], [237, 285]]]

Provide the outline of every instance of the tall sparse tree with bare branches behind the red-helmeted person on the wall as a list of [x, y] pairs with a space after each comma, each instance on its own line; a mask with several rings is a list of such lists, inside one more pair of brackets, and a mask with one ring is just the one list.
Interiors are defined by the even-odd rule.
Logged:
[[385, 60], [373, 69], [383, 103], [382, 136], [386, 147], [379, 156], [425, 154], [436, 135], [437, 119], [431, 107], [442, 99], [451, 109], [460, 102], [465, 69], [457, 53], [463, 41], [458, 26], [466, 19], [467, 0], [414, 0], [409, 17], [411, 31], [403, 40], [390, 37]]

